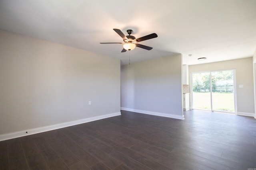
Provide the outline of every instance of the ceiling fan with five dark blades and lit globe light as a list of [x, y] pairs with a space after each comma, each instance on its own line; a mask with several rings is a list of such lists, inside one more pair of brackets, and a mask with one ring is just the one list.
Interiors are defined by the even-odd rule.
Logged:
[[129, 50], [129, 51], [133, 50], [135, 47], [140, 47], [142, 49], [151, 50], [151, 49], [153, 49], [152, 47], [138, 44], [138, 42], [158, 37], [156, 33], [152, 33], [152, 34], [146, 35], [144, 37], [135, 38], [134, 36], [131, 35], [131, 33], [133, 32], [132, 29], [127, 30], [127, 33], [129, 35], [124, 35], [124, 33], [120, 29], [114, 28], [114, 31], [116, 31], [116, 33], [118, 33], [118, 35], [120, 35], [120, 37], [122, 37], [122, 39], [124, 40], [124, 43], [100, 43], [100, 44], [123, 44], [124, 49], [121, 51], [122, 53], [126, 52], [127, 50]]

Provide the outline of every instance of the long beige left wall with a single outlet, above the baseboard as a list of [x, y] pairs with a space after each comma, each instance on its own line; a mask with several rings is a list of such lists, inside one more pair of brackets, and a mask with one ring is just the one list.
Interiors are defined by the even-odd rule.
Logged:
[[0, 135], [120, 113], [120, 60], [4, 30], [0, 37]]

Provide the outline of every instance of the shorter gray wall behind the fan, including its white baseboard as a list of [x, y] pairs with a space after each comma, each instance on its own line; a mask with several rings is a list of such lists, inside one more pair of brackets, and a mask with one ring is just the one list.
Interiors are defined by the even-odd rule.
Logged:
[[121, 66], [121, 109], [182, 119], [182, 55]]

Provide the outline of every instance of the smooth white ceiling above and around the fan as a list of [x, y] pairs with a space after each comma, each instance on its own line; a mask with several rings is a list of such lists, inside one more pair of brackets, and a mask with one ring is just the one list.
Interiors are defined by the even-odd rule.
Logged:
[[[140, 42], [131, 63], [182, 53], [183, 64], [252, 57], [256, 49], [256, 0], [0, 0], [0, 28], [128, 64], [129, 52], [113, 30], [133, 29]], [[188, 55], [192, 54], [192, 57]], [[205, 61], [198, 61], [207, 57]]]

